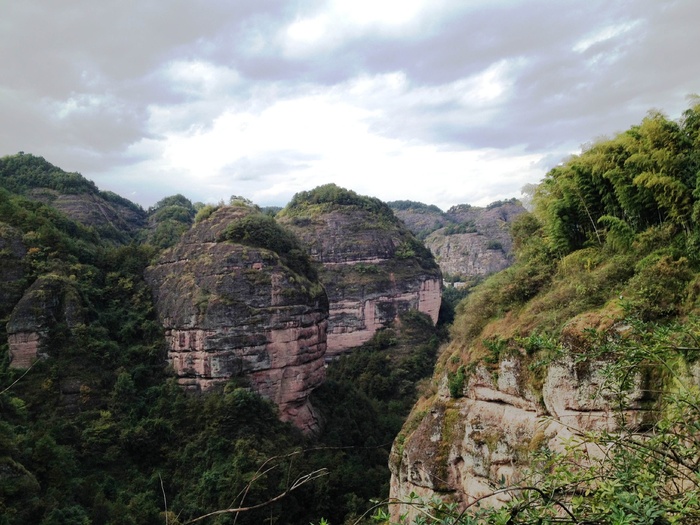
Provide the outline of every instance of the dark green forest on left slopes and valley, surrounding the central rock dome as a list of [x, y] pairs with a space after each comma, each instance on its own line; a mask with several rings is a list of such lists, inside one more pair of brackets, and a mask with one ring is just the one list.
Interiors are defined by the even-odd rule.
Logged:
[[[287, 230], [232, 204], [252, 219], [222, 245], [315, 278]], [[343, 523], [386, 497], [391, 441], [437, 353], [433, 322], [404, 312], [330, 363], [315, 435], [280, 422], [245, 376], [188, 393], [166, 367], [144, 270], [221, 208], [175, 195], [142, 210], [40, 157], [0, 159], [0, 523]]]

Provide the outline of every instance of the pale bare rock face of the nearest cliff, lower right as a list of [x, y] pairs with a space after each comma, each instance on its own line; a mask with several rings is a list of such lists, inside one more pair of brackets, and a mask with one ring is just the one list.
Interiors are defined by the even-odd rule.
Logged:
[[[619, 399], [605, 387], [604, 361], [584, 367], [563, 358], [548, 367], [543, 384], [533, 382], [529, 364], [522, 355], [488, 368], [478, 365], [463, 397], [456, 399], [443, 378], [432, 404], [414, 409], [404, 437], [394, 444], [390, 496], [407, 501], [411, 492], [428, 499], [440, 495], [466, 505], [491, 494], [499, 483], [517, 485], [541, 445], [561, 451], [577, 431], [619, 428]], [[648, 415], [640, 381], [623, 411], [628, 424]], [[601, 452], [587, 447], [587, 453]], [[507, 498], [492, 496], [484, 504]], [[397, 506], [393, 512], [398, 516], [411, 509]]]

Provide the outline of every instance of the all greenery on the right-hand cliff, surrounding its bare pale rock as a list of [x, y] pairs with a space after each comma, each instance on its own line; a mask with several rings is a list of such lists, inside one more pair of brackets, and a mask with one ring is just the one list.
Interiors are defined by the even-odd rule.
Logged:
[[[441, 377], [458, 398], [475, 364], [518, 356], [537, 392], [553, 360], [605, 362], [597, 395], [615, 400], [619, 427], [531, 444], [522, 483], [494, 480], [511, 498], [500, 508], [416, 497], [416, 523], [697, 523], [700, 106], [679, 121], [652, 112], [586, 147], [549, 172], [534, 204], [513, 225], [516, 264], [458, 306]], [[631, 398], [641, 419], [625, 412]]]

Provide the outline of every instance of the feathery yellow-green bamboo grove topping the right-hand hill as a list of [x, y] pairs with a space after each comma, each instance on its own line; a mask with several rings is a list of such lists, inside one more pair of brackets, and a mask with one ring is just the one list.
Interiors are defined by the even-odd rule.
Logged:
[[590, 145], [554, 168], [536, 200], [558, 254], [601, 245], [629, 246], [634, 235], [668, 225], [697, 257], [700, 226], [700, 107], [678, 121], [652, 112], [640, 125]]

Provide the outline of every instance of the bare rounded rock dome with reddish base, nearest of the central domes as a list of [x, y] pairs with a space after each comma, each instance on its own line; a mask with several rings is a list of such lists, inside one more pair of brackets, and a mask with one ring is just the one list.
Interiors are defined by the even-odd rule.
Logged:
[[168, 359], [192, 389], [244, 376], [282, 419], [313, 431], [308, 396], [325, 377], [327, 297], [274, 251], [221, 240], [252, 213], [218, 210], [147, 269]]

